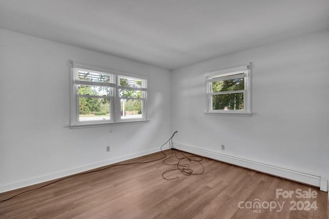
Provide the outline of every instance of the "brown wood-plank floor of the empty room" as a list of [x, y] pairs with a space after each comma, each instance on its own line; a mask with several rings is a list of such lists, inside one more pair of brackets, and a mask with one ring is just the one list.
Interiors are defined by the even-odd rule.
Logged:
[[[327, 193], [317, 188], [207, 158], [202, 163], [202, 175], [165, 175], [175, 180], [162, 178], [173, 167], [161, 160], [74, 176], [0, 202], [0, 218], [328, 218]], [[201, 170], [197, 164], [193, 169]], [[0, 200], [31, 188], [2, 193]], [[277, 198], [276, 189], [310, 189], [317, 197]]]

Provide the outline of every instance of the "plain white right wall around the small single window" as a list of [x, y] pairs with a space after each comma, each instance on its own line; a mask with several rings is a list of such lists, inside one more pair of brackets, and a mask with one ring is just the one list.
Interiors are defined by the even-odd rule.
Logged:
[[[205, 71], [247, 62], [253, 115], [205, 115]], [[328, 30], [176, 69], [171, 80], [175, 142], [329, 176]]]

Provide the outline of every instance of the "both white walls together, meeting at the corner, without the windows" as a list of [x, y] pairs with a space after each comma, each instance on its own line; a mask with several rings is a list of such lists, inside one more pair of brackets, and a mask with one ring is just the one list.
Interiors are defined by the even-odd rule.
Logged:
[[[70, 130], [69, 59], [149, 76], [150, 122]], [[329, 31], [170, 74], [0, 29], [0, 192], [158, 151], [176, 130], [177, 143], [329, 177], [328, 60]], [[204, 72], [246, 62], [253, 115], [205, 115]]]

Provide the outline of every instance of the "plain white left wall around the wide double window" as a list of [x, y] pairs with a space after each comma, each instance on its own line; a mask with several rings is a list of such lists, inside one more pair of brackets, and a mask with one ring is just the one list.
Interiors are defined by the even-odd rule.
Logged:
[[[69, 59], [147, 75], [150, 121], [70, 130]], [[0, 72], [0, 192], [159, 151], [171, 136], [168, 70], [0, 29]]]

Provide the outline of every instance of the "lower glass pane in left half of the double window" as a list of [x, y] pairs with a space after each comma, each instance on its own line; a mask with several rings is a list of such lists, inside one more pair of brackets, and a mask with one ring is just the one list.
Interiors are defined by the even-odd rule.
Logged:
[[109, 99], [79, 97], [79, 121], [109, 120], [109, 109]]

